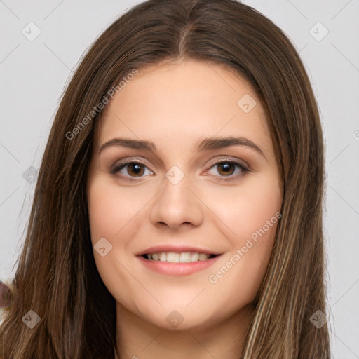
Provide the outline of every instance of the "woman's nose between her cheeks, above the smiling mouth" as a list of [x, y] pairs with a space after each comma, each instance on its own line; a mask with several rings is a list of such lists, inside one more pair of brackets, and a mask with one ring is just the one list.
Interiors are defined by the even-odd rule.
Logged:
[[194, 195], [194, 189], [190, 188], [186, 176], [177, 184], [165, 178], [163, 189], [154, 198], [151, 222], [171, 229], [199, 226], [203, 221], [203, 207], [201, 200]]

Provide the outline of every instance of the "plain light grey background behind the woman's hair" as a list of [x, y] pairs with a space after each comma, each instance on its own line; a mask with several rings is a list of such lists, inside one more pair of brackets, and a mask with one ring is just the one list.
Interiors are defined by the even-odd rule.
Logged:
[[[88, 46], [139, 2], [0, 0], [0, 280], [15, 273], [36, 170], [62, 91]], [[318, 100], [326, 146], [332, 358], [359, 358], [359, 0], [243, 2], [290, 37]]]

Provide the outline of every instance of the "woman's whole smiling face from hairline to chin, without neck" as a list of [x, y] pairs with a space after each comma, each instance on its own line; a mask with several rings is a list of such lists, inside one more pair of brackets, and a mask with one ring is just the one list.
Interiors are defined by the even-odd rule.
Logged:
[[154, 325], [221, 323], [255, 299], [280, 217], [264, 111], [219, 65], [187, 60], [130, 78], [90, 163], [97, 269], [118, 309]]

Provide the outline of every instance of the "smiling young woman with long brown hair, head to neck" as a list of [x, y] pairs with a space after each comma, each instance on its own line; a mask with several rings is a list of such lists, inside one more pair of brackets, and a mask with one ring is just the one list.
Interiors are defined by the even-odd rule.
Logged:
[[130, 9], [55, 116], [1, 358], [330, 358], [323, 158], [270, 20], [233, 0]]

